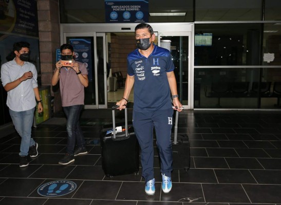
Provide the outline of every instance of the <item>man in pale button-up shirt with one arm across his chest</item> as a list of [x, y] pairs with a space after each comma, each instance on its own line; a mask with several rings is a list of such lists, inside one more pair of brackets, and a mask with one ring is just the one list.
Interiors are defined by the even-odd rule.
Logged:
[[36, 68], [28, 62], [29, 43], [15, 43], [11, 54], [14, 55], [14, 59], [1, 67], [1, 80], [4, 89], [8, 92], [7, 106], [13, 125], [22, 137], [19, 154], [20, 167], [26, 167], [28, 154], [30, 157], [38, 156], [38, 144], [31, 138], [31, 128], [36, 101], [39, 113], [43, 112], [43, 106], [37, 84]]

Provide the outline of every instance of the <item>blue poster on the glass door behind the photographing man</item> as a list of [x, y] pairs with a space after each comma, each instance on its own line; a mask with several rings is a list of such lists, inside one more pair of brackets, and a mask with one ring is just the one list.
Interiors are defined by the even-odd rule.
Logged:
[[73, 46], [75, 60], [86, 66], [88, 79], [92, 81], [91, 38], [70, 38], [69, 43]]

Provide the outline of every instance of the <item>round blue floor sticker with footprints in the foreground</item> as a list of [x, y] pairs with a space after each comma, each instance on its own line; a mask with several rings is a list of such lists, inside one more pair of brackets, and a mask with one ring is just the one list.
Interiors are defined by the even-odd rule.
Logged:
[[44, 183], [37, 189], [41, 196], [58, 197], [69, 194], [76, 190], [76, 183], [68, 180], [57, 180]]

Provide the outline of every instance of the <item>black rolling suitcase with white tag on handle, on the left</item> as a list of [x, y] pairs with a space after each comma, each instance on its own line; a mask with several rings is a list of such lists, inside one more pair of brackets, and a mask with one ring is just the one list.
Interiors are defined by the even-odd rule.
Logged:
[[139, 143], [133, 126], [128, 127], [127, 108], [125, 108], [125, 127], [122, 132], [115, 133], [115, 109], [113, 127], [101, 132], [102, 169], [106, 176], [139, 173]]

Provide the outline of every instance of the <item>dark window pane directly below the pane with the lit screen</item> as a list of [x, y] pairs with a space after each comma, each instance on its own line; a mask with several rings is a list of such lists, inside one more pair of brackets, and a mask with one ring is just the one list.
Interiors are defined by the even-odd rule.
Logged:
[[[194, 108], [259, 107], [260, 68], [196, 68]], [[273, 104], [272, 104], [273, 106]]]

